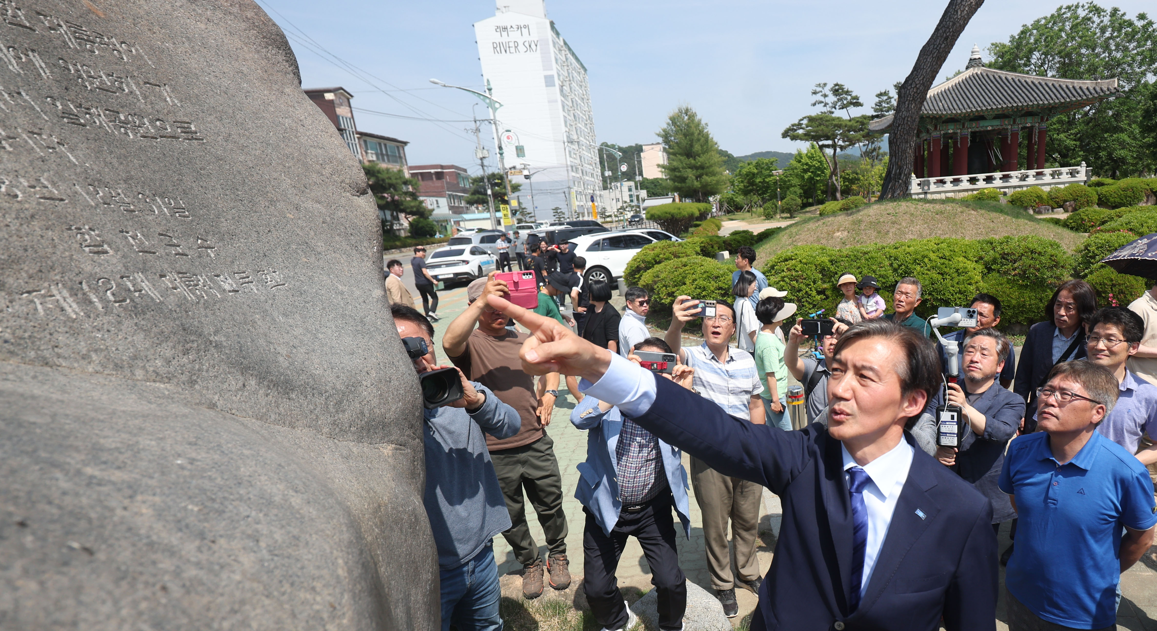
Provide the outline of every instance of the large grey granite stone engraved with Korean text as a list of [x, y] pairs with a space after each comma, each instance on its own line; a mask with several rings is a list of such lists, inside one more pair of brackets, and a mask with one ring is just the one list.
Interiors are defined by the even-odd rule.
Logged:
[[0, 629], [430, 629], [377, 211], [250, 0], [0, 0]]

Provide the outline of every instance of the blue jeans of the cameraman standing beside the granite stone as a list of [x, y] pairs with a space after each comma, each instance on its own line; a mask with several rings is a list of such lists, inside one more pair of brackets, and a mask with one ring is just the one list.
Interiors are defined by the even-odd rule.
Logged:
[[454, 570], [439, 570], [442, 582], [442, 631], [452, 623], [458, 631], [502, 631], [499, 617], [499, 566], [487, 545]]

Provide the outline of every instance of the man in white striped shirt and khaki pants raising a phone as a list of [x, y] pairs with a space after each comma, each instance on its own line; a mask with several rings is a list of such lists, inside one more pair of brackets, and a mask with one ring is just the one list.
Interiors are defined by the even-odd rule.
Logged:
[[[680, 348], [683, 327], [699, 318], [700, 307], [701, 300], [690, 296], [675, 299], [675, 317], [666, 329], [666, 343], [684, 364], [695, 370], [695, 392], [731, 416], [764, 424], [764, 406], [759, 401], [764, 385], [756, 369], [756, 358], [745, 350], [729, 346], [735, 335], [735, 309], [729, 303], [716, 300], [715, 317], [703, 318], [702, 344]], [[738, 582], [743, 587], [756, 594], [759, 594], [762, 582], [762, 572], [756, 557], [756, 529], [759, 526], [762, 488], [738, 477], [725, 477], [697, 458], [691, 459], [691, 483], [702, 513], [712, 587], [723, 604], [723, 613], [734, 617], [739, 611], [735, 600], [735, 574], [738, 574]], [[734, 572], [727, 541], [728, 520], [731, 521], [735, 542]]]

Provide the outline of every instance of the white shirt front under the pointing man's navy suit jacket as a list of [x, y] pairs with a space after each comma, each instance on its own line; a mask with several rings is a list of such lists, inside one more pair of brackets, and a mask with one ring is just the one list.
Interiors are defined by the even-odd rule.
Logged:
[[[840, 452], [843, 454], [843, 482], [850, 488], [852, 481], [847, 470], [860, 465], [843, 445], [840, 445]], [[912, 445], [901, 437], [899, 445], [861, 467], [871, 478], [871, 483], [864, 487], [863, 491], [864, 507], [868, 508], [868, 544], [864, 547], [864, 571], [860, 580], [861, 596], [868, 591], [871, 571], [876, 567], [876, 559], [879, 558], [879, 550], [887, 536], [887, 527], [892, 524], [896, 503], [900, 499], [900, 491], [908, 480], [908, 468], [912, 467], [914, 453]]]

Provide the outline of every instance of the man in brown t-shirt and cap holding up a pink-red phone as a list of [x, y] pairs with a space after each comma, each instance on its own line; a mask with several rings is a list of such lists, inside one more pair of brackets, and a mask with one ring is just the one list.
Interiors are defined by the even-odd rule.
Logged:
[[[530, 534], [523, 507], [523, 489], [538, 513], [538, 521], [546, 535], [550, 555], [546, 567], [551, 587], [566, 589], [570, 585], [567, 569], [567, 518], [562, 512], [562, 476], [554, 458], [554, 441], [546, 435], [551, 423], [554, 400], [559, 395], [559, 374], [543, 379], [546, 391], [541, 399], [535, 396], [535, 378], [522, 371], [518, 350], [526, 340], [525, 333], [506, 328], [509, 318], [494, 311], [486, 303], [488, 294], [508, 296], [503, 281], [495, 281], [492, 272], [466, 289], [470, 305], [450, 322], [442, 336], [442, 348], [454, 365], [466, 378], [491, 388], [503, 403], [522, 417], [518, 433], [502, 440], [486, 437], [494, 473], [499, 476], [502, 495], [510, 512], [510, 529], [502, 533], [514, 548], [515, 558], [522, 563], [522, 593], [528, 599], [543, 593], [543, 563], [538, 544]], [[476, 328], [477, 325], [477, 328]]]

